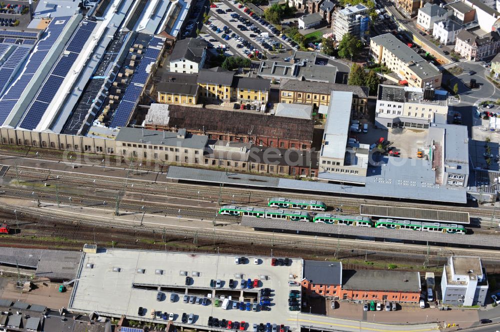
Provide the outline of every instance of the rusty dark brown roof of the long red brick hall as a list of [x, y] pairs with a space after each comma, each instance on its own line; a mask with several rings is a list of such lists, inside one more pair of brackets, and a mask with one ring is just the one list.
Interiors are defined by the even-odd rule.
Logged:
[[314, 120], [168, 105], [169, 128], [312, 141]]

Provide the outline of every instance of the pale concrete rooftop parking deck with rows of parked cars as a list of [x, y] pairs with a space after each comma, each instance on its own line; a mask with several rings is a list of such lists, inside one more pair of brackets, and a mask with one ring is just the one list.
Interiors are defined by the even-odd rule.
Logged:
[[[228, 255], [207, 255], [198, 253], [176, 253], [159, 251], [139, 251], [122, 249], [99, 249], [97, 254], [84, 253], [80, 269], [74, 284], [68, 308], [74, 311], [91, 313], [95, 311], [105, 316], [151, 321], [152, 311], [174, 313], [175, 323], [180, 323], [182, 313], [193, 313], [195, 325], [205, 326], [208, 317], [245, 321], [247, 324], [274, 322], [286, 324], [296, 312], [288, 311], [287, 299], [289, 280], [300, 282], [302, 276], [302, 260], [291, 259], [289, 266], [271, 266], [270, 258], [258, 257], [259, 264], [254, 264], [255, 256], [246, 256], [245, 264], [235, 264], [234, 257]], [[88, 266], [91, 264], [91, 267]], [[119, 271], [117, 270], [119, 269]], [[138, 270], [143, 270], [138, 271]], [[113, 271], [114, 270], [114, 271]], [[160, 270], [156, 271], [156, 270]], [[192, 278], [192, 283], [185, 286], [185, 276]], [[194, 275], [193, 275], [194, 274]], [[258, 279], [259, 288], [240, 289], [241, 279]], [[289, 276], [295, 279], [289, 279]], [[268, 276], [262, 280], [260, 276]], [[210, 280], [220, 279], [222, 288], [212, 289]], [[229, 289], [229, 279], [237, 282], [236, 288]], [[141, 289], [140, 286], [143, 288]], [[148, 286], [149, 289], [144, 289]], [[165, 296], [156, 301], [157, 288], [161, 287]], [[183, 303], [184, 294], [212, 297], [231, 295], [232, 300], [248, 302], [258, 294], [260, 288], [270, 288], [272, 293], [270, 311], [223, 310], [213, 306]], [[170, 294], [177, 294], [175, 302], [170, 302]], [[259, 299], [258, 299], [259, 300]], [[137, 310], [143, 307], [143, 316], [138, 317]], [[163, 320], [154, 320], [164, 323]]]

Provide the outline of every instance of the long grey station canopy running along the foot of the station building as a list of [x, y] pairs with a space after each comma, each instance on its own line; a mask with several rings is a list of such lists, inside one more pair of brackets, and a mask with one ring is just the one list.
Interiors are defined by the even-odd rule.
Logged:
[[344, 197], [376, 197], [392, 200], [426, 201], [465, 204], [465, 190], [448, 190], [438, 186], [414, 186], [406, 188], [396, 181], [381, 181], [374, 176], [363, 178], [364, 186], [341, 183], [292, 180], [231, 171], [170, 166], [166, 179], [184, 183], [224, 184], [233, 187], [266, 188], [268, 190], [296, 192], [302, 194], [331, 194]]

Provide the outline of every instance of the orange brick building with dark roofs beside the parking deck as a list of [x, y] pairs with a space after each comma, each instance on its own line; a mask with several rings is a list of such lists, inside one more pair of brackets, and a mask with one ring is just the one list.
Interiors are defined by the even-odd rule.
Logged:
[[341, 262], [304, 261], [302, 289], [309, 296], [335, 300], [415, 302], [419, 272], [344, 270]]

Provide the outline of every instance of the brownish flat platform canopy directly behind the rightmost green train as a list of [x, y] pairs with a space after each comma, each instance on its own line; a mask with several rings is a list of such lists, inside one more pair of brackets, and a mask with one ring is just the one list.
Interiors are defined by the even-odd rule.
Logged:
[[360, 215], [379, 218], [393, 218], [414, 221], [470, 224], [468, 212], [405, 208], [395, 206], [361, 205]]

